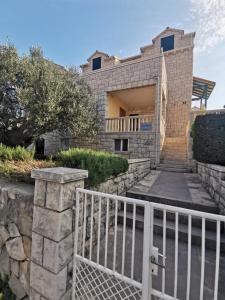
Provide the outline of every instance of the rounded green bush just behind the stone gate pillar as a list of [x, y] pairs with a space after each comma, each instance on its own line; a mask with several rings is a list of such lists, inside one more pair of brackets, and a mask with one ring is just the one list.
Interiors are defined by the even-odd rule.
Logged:
[[56, 157], [63, 166], [86, 169], [89, 171], [86, 183], [96, 186], [111, 176], [117, 176], [128, 170], [128, 161], [118, 155], [90, 149], [72, 148], [61, 151]]

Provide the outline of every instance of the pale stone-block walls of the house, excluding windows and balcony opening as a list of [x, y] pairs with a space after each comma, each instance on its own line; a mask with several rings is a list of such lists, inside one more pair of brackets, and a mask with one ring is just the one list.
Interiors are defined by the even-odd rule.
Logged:
[[[174, 49], [161, 51], [161, 39], [171, 35], [174, 36]], [[98, 99], [102, 127], [94, 139], [70, 139], [69, 145], [115, 152], [115, 139], [125, 138], [128, 139], [129, 147], [128, 151], [121, 152], [121, 155], [128, 158], [150, 158], [152, 163], [157, 165], [163, 148], [164, 152], [166, 151], [166, 138], [184, 138], [185, 143], [181, 143], [179, 148], [185, 153], [184, 160], [187, 159], [194, 35], [184, 34], [183, 30], [166, 28], [152, 40], [151, 45], [142, 47], [139, 55], [125, 59], [96, 51], [81, 68], [83, 78]], [[96, 58], [101, 58], [101, 68], [93, 71], [93, 60]], [[106, 132], [108, 95], [144, 87], [154, 87], [155, 90], [151, 99], [154, 104], [152, 131], [134, 133], [119, 130], [113, 134]], [[136, 99], [133, 113], [139, 114], [139, 111], [139, 99]], [[176, 159], [176, 149], [174, 152]]]

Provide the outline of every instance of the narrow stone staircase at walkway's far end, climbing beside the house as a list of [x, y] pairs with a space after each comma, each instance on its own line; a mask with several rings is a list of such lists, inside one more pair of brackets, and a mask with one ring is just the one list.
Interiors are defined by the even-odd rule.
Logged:
[[187, 141], [185, 137], [166, 137], [157, 170], [188, 173]]

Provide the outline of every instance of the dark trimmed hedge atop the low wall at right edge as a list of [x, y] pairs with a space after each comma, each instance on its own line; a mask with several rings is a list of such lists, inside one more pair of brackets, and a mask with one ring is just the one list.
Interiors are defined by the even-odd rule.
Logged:
[[197, 161], [225, 165], [225, 113], [197, 116], [192, 137]]

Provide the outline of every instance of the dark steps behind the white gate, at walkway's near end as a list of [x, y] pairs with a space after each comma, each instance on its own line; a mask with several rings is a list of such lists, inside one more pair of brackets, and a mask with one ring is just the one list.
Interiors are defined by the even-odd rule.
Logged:
[[[188, 208], [192, 210], [198, 210], [208, 213], [219, 213], [216, 206], [207, 206], [206, 204], [196, 204], [187, 201], [180, 201], [178, 199], [163, 198], [159, 196], [147, 196], [138, 195], [136, 193], [128, 192], [127, 197], [142, 199], [150, 202], [161, 203], [165, 205], [178, 206], [183, 208]], [[123, 224], [123, 208], [118, 213], [118, 222]], [[133, 207], [132, 205], [127, 205], [127, 226], [133, 226]], [[136, 211], [136, 228], [143, 230], [144, 226], [144, 208], [138, 207]], [[224, 228], [221, 228], [224, 232]], [[179, 214], [179, 241], [187, 243], [188, 242], [188, 217], [186, 215]], [[163, 213], [162, 211], [154, 211], [154, 234], [163, 235]], [[166, 214], [166, 235], [168, 238], [175, 238], [175, 213], [167, 212]], [[206, 248], [215, 250], [216, 249], [216, 222], [206, 220]], [[201, 246], [202, 241], [202, 223], [200, 218], [192, 217], [192, 244]], [[225, 251], [225, 236], [221, 235], [221, 251]]]

